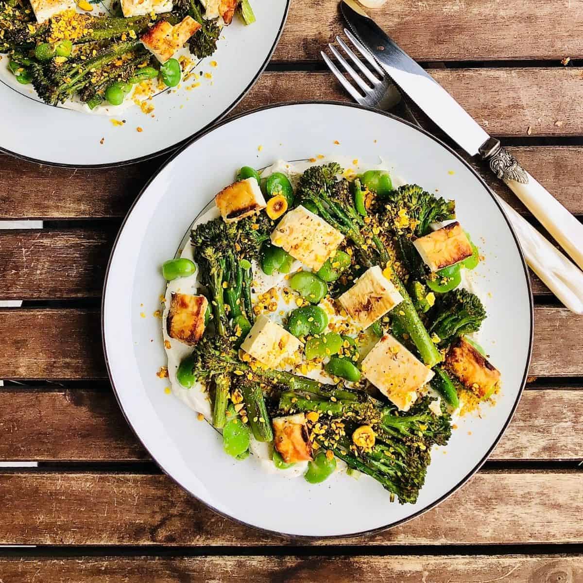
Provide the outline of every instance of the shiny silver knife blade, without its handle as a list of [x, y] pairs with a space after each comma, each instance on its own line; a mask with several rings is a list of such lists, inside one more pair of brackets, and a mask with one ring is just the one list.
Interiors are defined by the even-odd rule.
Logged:
[[484, 129], [356, 2], [343, 0], [341, 9], [353, 33], [374, 55], [395, 85], [470, 156], [476, 156], [490, 138]]

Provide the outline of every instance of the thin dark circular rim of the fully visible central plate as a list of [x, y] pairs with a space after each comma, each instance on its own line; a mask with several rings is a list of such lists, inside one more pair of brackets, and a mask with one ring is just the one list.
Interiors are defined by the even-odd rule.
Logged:
[[531, 279], [530, 279], [530, 276], [529, 276], [529, 273], [528, 273], [528, 266], [526, 265], [526, 261], [525, 261], [525, 258], [524, 258], [524, 254], [522, 253], [522, 248], [520, 246], [520, 243], [518, 242], [518, 237], [517, 237], [516, 233], [514, 232], [514, 229], [512, 228], [512, 225], [511, 225], [510, 221], [508, 220], [508, 217], [505, 215], [504, 210], [500, 206], [500, 203], [496, 200], [496, 196], [494, 195], [494, 193], [491, 191], [491, 189], [486, 184], [486, 182], [484, 182], [483, 178], [477, 173], [477, 171], [474, 170], [468, 164], [468, 162], [466, 162], [461, 156], [459, 156], [459, 154], [457, 152], [455, 152], [455, 150], [451, 149], [451, 147], [449, 147], [447, 144], [445, 144], [444, 142], [442, 142], [440, 139], [438, 139], [435, 136], [431, 135], [425, 129], [419, 128], [416, 125], [413, 125], [413, 124], [411, 124], [408, 121], [402, 120], [401, 118], [396, 117], [395, 115], [386, 113], [384, 111], [379, 111], [379, 110], [375, 110], [374, 108], [371, 108], [371, 107], [364, 107], [364, 106], [360, 106], [360, 105], [357, 105], [357, 104], [344, 103], [344, 102], [340, 102], [340, 101], [288, 101], [286, 103], [278, 103], [278, 104], [274, 104], [274, 105], [270, 105], [270, 106], [259, 107], [259, 108], [255, 109], [255, 110], [247, 111], [247, 112], [245, 112], [243, 114], [236, 115], [235, 117], [230, 118], [229, 120], [223, 121], [221, 124], [217, 125], [216, 127], [217, 128], [218, 127], [222, 127], [223, 125], [229, 124], [231, 121], [236, 121], [239, 118], [246, 117], [247, 115], [253, 115], [255, 113], [259, 113], [259, 112], [264, 111], [264, 110], [269, 110], [269, 109], [274, 109], [274, 108], [279, 108], [279, 107], [289, 107], [289, 106], [297, 106], [297, 105], [310, 105], [310, 104], [312, 104], [312, 105], [329, 105], [329, 106], [336, 106], [336, 107], [353, 107], [353, 108], [356, 108], [356, 109], [370, 111], [371, 113], [374, 113], [374, 114], [377, 114], [377, 115], [384, 115], [385, 117], [392, 118], [393, 120], [395, 120], [395, 121], [397, 121], [397, 122], [399, 122], [401, 124], [408, 125], [410, 128], [415, 129], [415, 131], [421, 132], [422, 134], [424, 134], [427, 137], [431, 138], [434, 142], [437, 142], [438, 145], [440, 145], [445, 150], [447, 150], [449, 153], [451, 153], [452, 156], [454, 156], [457, 160], [459, 160], [466, 168], [468, 168], [468, 170], [476, 177], [477, 181], [479, 181], [480, 184], [482, 184], [482, 186], [486, 190], [487, 194], [490, 196], [490, 198], [493, 200], [493, 202], [498, 207], [498, 210], [500, 210], [501, 215], [504, 217], [504, 220], [506, 221], [506, 223], [508, 225], [508, 229], [510, 229], [510, 232], [512, 234], [512, 237], [514, 238], [514, 242], [516, 244], [516, 247], [517, 247], [517, 250], [518, 250], [518, 254], [519, 254], [519, 256], [521, 258], [521, 261], [522, 261], [522, 269], [524, 270], [524, 276], [525, 276], [525, 280], [526, 280], [526, 287], [528, 289], [529, 309], [530, 309], [530, 316], [531, 316], [530, 319], [531, 319], [531, 322], [530, 322], [530, 335], [529, 335], [528, 355], [527, 355], [527, 358], [526, 358], [526, 363], [525, 363], [525, 368], [524, 368], [524, 374], [522, 375], [522, 381], [521, 381], [521, 384], [520, 384], [520, 389], [518, 391], [517, 398], [516, 398], [514, 404], [512, 405], [512, 409], [510, 410], [510, 413], [508, 414], [508, 419], [504, 423], [504, 426], [502, 427], [500, 433], [498, 434], [498, 436], [496, 437], [496, 439], [493, 441], [491, 447], [488, 449], [488, 451], [486, 452], [486, 454], [484, 454], [483, 458], [480, 459], [480, 461], [476, 463], [476, 465], [474, 466], [474, 468], [472, 470], [470, 470], [454, 487], [452, 487], [451, 490], [449, 490], [443, 496], [441, 496], [437, 500], [433, 501], [431, 504], [428, 504], [426, 507], [422, 508], [421, 510], [418, 510], [416, 512], [413, 512], [413, 514], [410, 514], [406, 518], [402, 518], [402, 519], [400, 519], [398, 521], [391, 522], [391, 523], [386, 524], [386, 525], [383, 525], [383, 526], [378, 526], [377, 528], [368, 529], [367, 531], [353, 532], [353, 533], [348, 533], [348, 534], [343, 534], [343, 535], [323, 535], [323, 536], [316, 536], [316, 535], [290, 535], [290, 534], [287, 534], [287, 533], [284, 533], [284, 532], [272, 531], [270, 529], [262, 528], [261, 526], [255, 526], [255, 525], [250, 524], [248, 522], [244, 522], [244, 521], [242, 521], [242, 520], [240, 520], [238, 518], [235, 518], [235, 517], [232, 517], [229, 514], [226, 514], [225, 512], [222, 512], [220, 510], [217, 510], [215, 507], [213, 507], [212, 505], [206, 503], [204, 500], [202, 500], [201, 498], [199, 498], [198, 496], [196, 496], [194, 493], [192, 493], [187, 487], [182, 486], [182, 484], [180, 482], [178, 482], [177, 479], [175, 479], [173, 476], [171, 476], [170, 473], [168, 473], [166, 471], [166, 469], [164, 469], [164, 467], [161, 465], [161, 463], [152, 455], [152, 452], [150, 452], [146, 448], [146, 446], [143, 444], [143, 441], [141, 440], [140, 436], [134, 430], [134, 426], [132, 426], [132, 423], [129, 421], [128, 416], [126, 415], [125, 410], [124, 410], [124, 408], [121, 405], [120, 397], [118, 395], [118, 389], [115, 387], [115, 382], [114, 382], [113, 377], [111, 375], [110, 364], [109, 364], [109, 360], [108, 360], [108, 357], [107, 357], [107, 346], [106, 346], [105, 334], [104, 334], [104, 330], [105, 330], [105, 326], [104, 326], [105, 325], [105, 317], [104, 317], [105, 310], [104, 310], [104, 308], [105, 308], [105, 298], [106, 298], [106, 291], [107, 291], [107, 282], [108, 282], [108, 278], [109, 278], [109, 275], [110, 275], [111, 262], [113, 260], [114, 254], [115, 254], [115, 249], [117, 247], [118, 240], [120, 238], [120, 234], [121, 234], [122, 230], [124, 229], [125, 223], [128, 220], [129, 215], [131, 214], [132, 210], [134, 209], [134, 206], [136, 205], [136, 203], [138, 203], [138, 201], [141, 198], [142, 194], [150, 186], [150, 183], [156, 178], [156, 176], [161, 172], [161, 170], [163, 170], [163, 168], [166, 167], [167, 164], [169, 164], [177, 156], [179, 156], [182, 152], [184, 152], [184, 150], [188, 149], [189, 146], [191, 146], [193, 143], [195, 143], [196, 141], [198, 141], [198, 139], [202, 138], [203, 136], [205, 136], [209, 132], [213, 131], [213, 129], [215, 129], [215, 128], [210, 128], [207, 131], [202, 132], [202, 134], [196, 136], [196, 138], [192, 139], [186, 145], [184, 145], [180, 150], [178, 150], [177, 152], [175, 152], [173, 154], [173, 156], [171, 156], [170, 159], [168, 159], [166, 161], [166, 163], [164, 163], [163, 166], [161, 166], [159, 168], [159, 170], [157, 171], [157, 173], [152, 178], [150, 178], [150, 180], [147, 182], [147, 184], [145, 185], [145, 187], [143, 187], [142, 191], [140, 192], [140, 194], [138, 195], [138, 197], [134, 201], [131, 209], [129, 209], [129, 212], [128, 212], [127, 216], [124, 219], [124, 222], [122, 223], [122, 225], [120, 227], [120, 231], [119, 231], [117, 237], [115, 238], [115, 242], [114, 242], [114, 245], [113, 245], [113, 249], [111, 250], [111, 255], [110, 255], [109, 261], [107, 263], [106, 276], [105, 276], [105, 281], [104, 281], [104, 285], [103, 285], [103, 297], [102, 297], [102, 300], [101, 300], [101, 338], [102, 338], [102, 342], [103, 342], [103, 352], [104, 352], [104, 356], [105, 356], [105, 360], [106, 360], [107, 374], [108, 374], [108, 376], [110, 378], [111, 386], [114, 389], [115, 398], [117, 399], [117, 402], [120, 405], [120, 409], [122, 410], [122, 413], [123, 413], [126, 421], [128, 422], [129, 426], [132, 428], [132, 431], [134, 431], [136, 437], [141, 442], [142, 446], [146, 449], [146, 451], [150, 454], [150, 456], [152, 456], [152, 459], [154, 460], [154, 462], [156, 462], [157, 465], [160, 466], [160, 469], [168, 477], [170, 477], [171, 480], [173, 480], [175, 483], [177, 483], [178, 486], [180, 486], [183, 490], [187, 491], [192, 497], [196, 498], [196, 500], [198, 500], [199, 502], [201, 502], [205, 506], [209, 507], [211, 510], [217, 512], [217, 514], [221, 515], [222, 517], [229, 518], [230, 520], [234, 520], [235, 522], [238, 522], [238, 524], [241, 524], [241, 525], [244, 525], [244, 526], [248, 526], [249, 528], [255, 529], [256, 531], [263, 532], [263, 533], [268, 533], [270, 535], [280, 536], [280, 537], [286, 538], [287, 540], [292, 540], [292, 541], [293, 540], [299, 540], [299, 541], [301, 541], [301, 540], [314, 541], [314, 540], [351, 539], [351, 538], [356, 538], [356, 537], [359, 537], [359, 536], [373, 535], [375, 533], [385, 531], [385, 530], [387, 530], [389, 528], [394, 528], [395, 526], [399, 526], [401, 524], [404, 524], [405, 522], [408, 522], [408, 521], [412, 520], [413, 518], [419, 517], [420, 515], [422, 515], [425, 512], [427, 512], [428, 510], [431, 510], [431, 508], [434, 508], [438, 504], [441, 504], [442, 501], [444, 501], [446, 498], [449, 498], [449, 496], [451, 496], [451, 494], [453, 494], [456, 490], [459, 490], [459, 488], [461, 488], [463, 486], [463, 484], [465, 484], [466, 482], [468, 482], [468, 480], [477, 472], [477, 470], [479, 470], [482, 467], [482, 465], [484, 464], [484, 462], [486, 462], [486, 460], [490, 456], [491, 452], [496, 447], [496, 445], [500, 441], [501, 437], [504, 435], [504, 433], [505, 433], [505, 431], [506, 431], [506, 429], [508, 427], [508, 424], [512, 420], [512, 417], [514, 417], [514, 413], [516, 411], [516, 408], [517, 408], [518, 403], [519, 403], [519, 401], [521, 399], [521, 396], [522, 396], [522, 392], [524, 391], [524, 387], [526, 385], [526, 379], [528, 378], [528, 369], [529, 369], [529, 366], [531, 364], [531, 357], [532, 357], [533, 332], [534, 332], [534, 304], [533, 304], [533, 297], [532, 297]]

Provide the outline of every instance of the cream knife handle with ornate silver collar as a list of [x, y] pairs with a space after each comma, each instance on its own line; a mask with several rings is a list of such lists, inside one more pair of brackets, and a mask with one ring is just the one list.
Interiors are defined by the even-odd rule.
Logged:
[[515, 157], [503, 147], [489, 159], [489, 163], [498, 178], [504, 180], [540, 224], [583, 269], [583, 224], [524, 170]]

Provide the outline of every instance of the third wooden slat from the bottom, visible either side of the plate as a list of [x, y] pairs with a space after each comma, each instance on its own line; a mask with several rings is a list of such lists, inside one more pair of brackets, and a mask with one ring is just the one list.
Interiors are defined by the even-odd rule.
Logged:
[[[149, 459], [112, 392], [45, 389], [0, 389], [0, 461]], [[583, 390], [525, 391], [490, 459], [583, 458], [582, 409]]]

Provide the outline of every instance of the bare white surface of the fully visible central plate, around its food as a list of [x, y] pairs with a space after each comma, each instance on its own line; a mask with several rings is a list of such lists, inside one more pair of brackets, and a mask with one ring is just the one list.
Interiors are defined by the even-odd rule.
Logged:
[[[434, 453], [415, 505], [389, 503], [387, 491], [368, 478], [335, 475], [310, 486], [301, 479], [265, 474], [254, 463], [234, 461], [222, 452], [217, 433], [165, 394], [168, 383], [155, 376], [166, 363], [160, 320], [152, 317], [165, 287], [160, 265], [174, 257], [191, 221], [238, 167], [261, 168], [278, 158], [318, 154], [370, 163], [382, 157], [406, 180], [455, 198], [459, 220], [485, 256], [477, 272], [489, 305], [483, 345], [502, 372], [503, 390], [483, 419], [460, 420], [445, 448], [447, 455]], [[526, 265], [507, 219], [486, 184], [454, 152], [377, 111], [338, 103], [283, 104], [212, 129], [185, 146], [150, 181], [111, 255], [103, 336], [111, 382], [128, 422], [153, 459], [184, 489], [216, 511], [266, 531], [349, 536], [420, 514], [459, 488], [484, 462], [524, 387], [532, 299]]]

